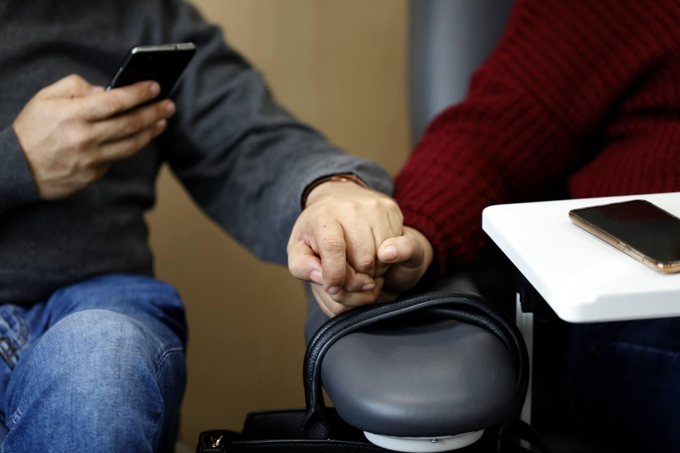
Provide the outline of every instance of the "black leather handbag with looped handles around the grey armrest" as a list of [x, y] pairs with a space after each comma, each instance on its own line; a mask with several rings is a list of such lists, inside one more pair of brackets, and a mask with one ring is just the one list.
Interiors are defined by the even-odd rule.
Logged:
[[[350, 310], [322, 325], [311, 338], [305, 354], [303, 380], [306, 408], [252, 412], [245, 419], [243, 431], [205, 431], [199, 436], [197, 452], [388, 452], [373, 445], [362, 431], [342, 420], [337, 412], [324, 405], [321, 365], [328, 349], [343, 336], [397, 316], [427, 316], [453, 319], [481, 327], [503, 343], [515, 365], [517, 391], [509, 417], [486, 430], [471, 446], [460, 453], [529, 452], [549, 453], [543, 439], [520, 420], [529, 378], [526, 345], [520, 331], [507, 314], [483, 297], [461, 292], [437, 292], [406, 297], [390, 304]], [[494, 398], [494, 395], [489, 395]]]

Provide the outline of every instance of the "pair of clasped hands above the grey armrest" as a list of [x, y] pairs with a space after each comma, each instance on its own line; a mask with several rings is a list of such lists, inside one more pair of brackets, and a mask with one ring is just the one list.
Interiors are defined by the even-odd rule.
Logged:
[[392, 198], [352, 181], [314, 187], [288, 241], [288, 268], [311, 282], [326, 316], [392, 302], [432, 263], [432, 245], [403, 225]]

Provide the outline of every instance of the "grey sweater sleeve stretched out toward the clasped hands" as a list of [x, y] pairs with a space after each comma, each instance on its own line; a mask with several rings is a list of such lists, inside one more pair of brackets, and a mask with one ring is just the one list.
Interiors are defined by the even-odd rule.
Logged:
[[307, 185], [352, 173], [391, 194], [377, 164], [348, 156], [277, 105], [260, 74], [193, 7], [169, 2], [173, 41], [197, 45], [163, 137], [173, 171], [205, 211], [262, 259], [286, 262]]

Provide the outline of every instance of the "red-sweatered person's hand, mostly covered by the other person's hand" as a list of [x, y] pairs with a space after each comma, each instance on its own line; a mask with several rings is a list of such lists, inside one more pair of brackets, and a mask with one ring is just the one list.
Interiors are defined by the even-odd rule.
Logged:
[[[381, 291], [375, 294], [378, 304], [392, 302], [399, 294], [413, 288], [432, 264], [432, 244], [418, 230], [404, 227], [403, 236], [388, 238], [380, 244], [377, 256], [384, 271], [375, 280]], [[311, 291], [322, 312], [332, 318], [351, 308], [343, 300], [332, 298], [320, 285], [312, 283]]]

